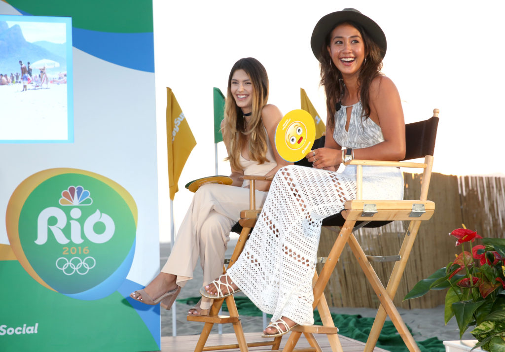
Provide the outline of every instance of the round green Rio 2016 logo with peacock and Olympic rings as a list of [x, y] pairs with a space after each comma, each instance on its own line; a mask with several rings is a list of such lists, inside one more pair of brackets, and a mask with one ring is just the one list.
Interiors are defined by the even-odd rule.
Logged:
[[25, 179], [6, 214], [16, 258], [41, 285], [99, 299], [124, 282], [135, 252], [137, 208], [118, 183], [78, 169]]

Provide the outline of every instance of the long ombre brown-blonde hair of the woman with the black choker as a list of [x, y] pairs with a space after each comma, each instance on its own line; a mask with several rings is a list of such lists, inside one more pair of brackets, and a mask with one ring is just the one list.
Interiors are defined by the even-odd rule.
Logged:
[[[245, 125], [242, 109], [235, 102], [231, 93], [231, 79], [237, 70], [244, 70], [252, 83], [252, 111], [249, 123]], [[268, 101], [268, 75], [265, 67], [254, 58], [238, 60], [228, 77], [227, 97], [224, 108], [223, 136], [228, 139], [229, 155], [225, 160], [235, 170], [243, 170], [240, 165], [240, 153], [248, 143], [249, 158], [263, 164], [267, 159], [267, 133], [263, 127], [261, 113]]]

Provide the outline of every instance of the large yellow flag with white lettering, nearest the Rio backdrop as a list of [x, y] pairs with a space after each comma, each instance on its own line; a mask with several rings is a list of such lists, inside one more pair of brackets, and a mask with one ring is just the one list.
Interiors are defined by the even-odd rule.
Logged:
[[193, 133], [175, 99], [172, 89], [167, 87], [167, 148], [168, 148], [168, 185], [170, 199], [174, 200], [179, 190], [177, 182], [182, 168], [196, 145]]

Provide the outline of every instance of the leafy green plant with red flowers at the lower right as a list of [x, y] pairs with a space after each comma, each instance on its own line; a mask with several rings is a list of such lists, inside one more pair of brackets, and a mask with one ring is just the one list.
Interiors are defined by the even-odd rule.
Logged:
[[[419, 281], [404, 299], [447, 289], [445, 324], [456, 317], [460, 339], [469, 327], [475, 327], [471, 333], [478, 343], [473, 348], [505, 351], [505, 239], [483, 238], [465, 225], [449, 235], [458, 239], [461, 254]], [[483, 244], [474, 245], [476, 239]], [[468, 252], [465, 245], [469, 245]]]

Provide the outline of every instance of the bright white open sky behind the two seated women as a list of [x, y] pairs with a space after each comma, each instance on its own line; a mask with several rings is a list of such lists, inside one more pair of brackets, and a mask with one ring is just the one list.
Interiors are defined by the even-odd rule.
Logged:
[[[505, 175], [505, 165], [499, 162], [504, 138], [499, 103], [505, 81], [502, 1], [154, 0], [162, 241], [170, 239], [168, 174], [164, 170], [165, 87], [172, 88], [197, 141], [174, 199], [177, 230], [192, 198], [184, 184], [216, 174], [212, 88], [218, 87], [226, 95], [233, 64], [243, 57], [255, 57], [269, 75], [269, 103], [283, 114], [299, 109], [300, 88], [304, 88], [326, 120], [319, 65], [310, 38], [322, 16], [348, 7], [372, 18], [385, 32], [388, 45], [382, 72], [398, 88], [406, 123], [431, 117], [434, 108], [440, 110], [433, 171]], [[228, 175], [224, 157], [221, 142], [218, 174]]]

